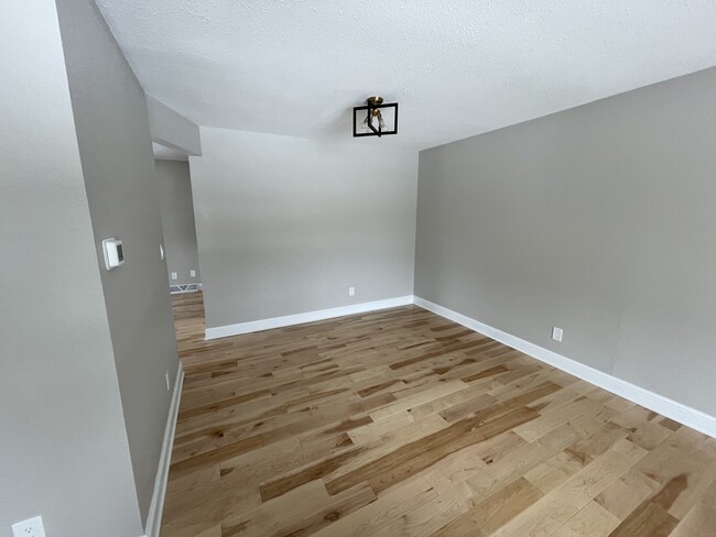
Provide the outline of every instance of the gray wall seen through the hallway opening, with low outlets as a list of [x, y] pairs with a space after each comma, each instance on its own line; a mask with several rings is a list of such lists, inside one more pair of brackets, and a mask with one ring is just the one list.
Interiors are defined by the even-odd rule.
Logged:
[[[170, 284], [200, 282], [189, 163], [154, 161], [154, 165], [156, 166], [156, 187], [162, 209], [166, 273]], [[196, 276], [189, 275], [191, 270], [196, 271]], [[175, 281], [171, 280], [173, 272], [177, 276]]]

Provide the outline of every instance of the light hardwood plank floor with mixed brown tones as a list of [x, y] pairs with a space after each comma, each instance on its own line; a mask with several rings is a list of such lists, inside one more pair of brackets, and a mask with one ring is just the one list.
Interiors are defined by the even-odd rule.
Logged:
[[415, 306], [204, 341], [163, 537], [716, 535], [716, 440]]

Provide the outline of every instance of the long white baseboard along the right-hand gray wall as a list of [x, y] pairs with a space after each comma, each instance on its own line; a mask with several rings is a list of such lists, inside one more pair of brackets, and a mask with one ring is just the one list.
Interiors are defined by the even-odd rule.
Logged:
[[626, 399], [637, 403], [650, 410], [666, 416], [680, 424], [692, 429], [696, 429], [710, 437], [716, 437], [716, 417], [709, 416], [701, 410], [677, 403], [673, 399], [644, 390], [643, 387], [631, 384], [630, 382], [617, 379], [608, 373], [604, 373], [594, 368], [589, 368], [569, 358], [557, 354], [549, 349], [530, 343], [521, 338], [512, 336], [489, 325], [471, 319], [465, 315], [447, 309], [437, 304], [431, 303], [420, 297], [414, 298], [414, 304], [434, 314], [445, 317], [452, 321], [470, 328], [477, 332], [484, 333], [501, 343], [517, 349], [525, 354], [547, 363], [558, 370], [565, 371], [574, 376], [587, 381], [608, 392], [617, 394]]

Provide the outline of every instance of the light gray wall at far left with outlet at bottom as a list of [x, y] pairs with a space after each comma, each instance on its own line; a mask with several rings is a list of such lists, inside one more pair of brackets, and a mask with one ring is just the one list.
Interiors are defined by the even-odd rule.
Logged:
[[51, 537], [135, 537], [142, 525], [55, 2], [4, 8], [0, 535], [42, 515]]

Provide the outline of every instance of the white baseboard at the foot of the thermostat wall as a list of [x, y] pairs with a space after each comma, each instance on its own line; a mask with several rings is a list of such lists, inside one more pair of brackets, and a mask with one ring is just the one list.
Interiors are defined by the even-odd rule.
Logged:
[[172, 448], [174, 447], [174, 431], [176, 430], [176, 416], [178, 415], [180, 401], [182, 398], [182, 385], [184, 384], [184, 369], [180, 362], [172, 392], [172, 402], [169, 407], [166, 427], [164, 428], [164, 442], [162, 453], [159, 458], [159, 469], [154, 480], [154, 493], [152, 503], [147, 515], [147, 527], [144, 537], [159, 537], [162, 526], [162, 512], [164, 511], [164, 496], [166, 495], [166, 480], [169, 479], [169, 467], [172, 462]]

